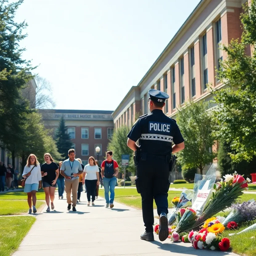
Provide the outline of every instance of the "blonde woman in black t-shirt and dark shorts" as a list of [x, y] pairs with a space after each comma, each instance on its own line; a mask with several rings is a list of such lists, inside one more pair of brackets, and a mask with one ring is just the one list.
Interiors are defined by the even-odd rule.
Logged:
[[45, 163], [41, 166], [42, 182], [45, 191], [45, 201], [48, 206], [46, 211], [50, 211], [50, 200], [51, 209], [54, 209], [54, 193], [57, 187], [57, 179], [59, 176], [59, 167], [53, 161], [50, 153], [45, 153], [44, 155]]

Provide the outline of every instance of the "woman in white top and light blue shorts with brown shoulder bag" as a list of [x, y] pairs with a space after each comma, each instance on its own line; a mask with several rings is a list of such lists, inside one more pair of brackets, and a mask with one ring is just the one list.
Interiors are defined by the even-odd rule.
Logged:
[[[26, 178], [24, 192], [28, 195], [28, 213], [32, 213], [32, 201], [33, 201], [33, 213], [36, 213], [36, 192], [38, 187], [41, 188], [41, 168], [34, 154], [30, 154], [27, 160], [27, 165], [24, 167], [22, 174], [23, 178]], [[31, 200], [32, 199], [32, 200]]]

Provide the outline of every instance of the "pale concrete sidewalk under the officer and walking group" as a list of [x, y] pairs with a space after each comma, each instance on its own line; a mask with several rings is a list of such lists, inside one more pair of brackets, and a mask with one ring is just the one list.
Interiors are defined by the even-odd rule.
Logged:
[[[105, 200], [86, 205], [86, 194], [81, 193], [77, 212], [67, 211], [66, 200], [55, 199], [55, 210], [44, 210], [21, 243], [15, 256], [41, 255], [236, 255], [233, 253], [195, 250], [190, 243], [154, 242], [140, 239], [144, 230], [142, 212], [114, 203], [105, 208]], [[158, 220], [156, 220], [157, 222]], [[170, 254], [172, 253], [172, 254]]]

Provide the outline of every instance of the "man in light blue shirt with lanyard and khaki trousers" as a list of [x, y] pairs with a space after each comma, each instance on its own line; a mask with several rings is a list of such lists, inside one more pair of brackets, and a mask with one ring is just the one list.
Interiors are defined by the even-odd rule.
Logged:
[[[60, 169], [61, 175], [65, 177], [65, 187], [67, 193], [68, 210], [76, 211], [77, 204], [77, 189], [79, 185], [79, 175], [83, 173], [82, 166], [79, 161], [75, 159], [76, 152], [74, 149], [68, 151], [69, 159], [63, 161]], [[72, 201], [71, 201], [72, 191]]]

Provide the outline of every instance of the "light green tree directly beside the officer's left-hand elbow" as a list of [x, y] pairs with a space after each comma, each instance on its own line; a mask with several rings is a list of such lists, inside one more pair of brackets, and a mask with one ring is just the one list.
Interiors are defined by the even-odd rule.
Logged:
[[126, 167], [126, 172], [135, 173], [136, 169], [133, 162], [134, 152], [127, 147], [127, 134], [129, 133], [130, 128], [126, 125], [115, 129], [113, 136], [108, 144], [108, 150], [113, 152], [114, 159], [119, 163], [119, 170], [121, 173], [124, 172], [124, 168], [121, 166], [122, 155], [130, 155], [129, 166]]

